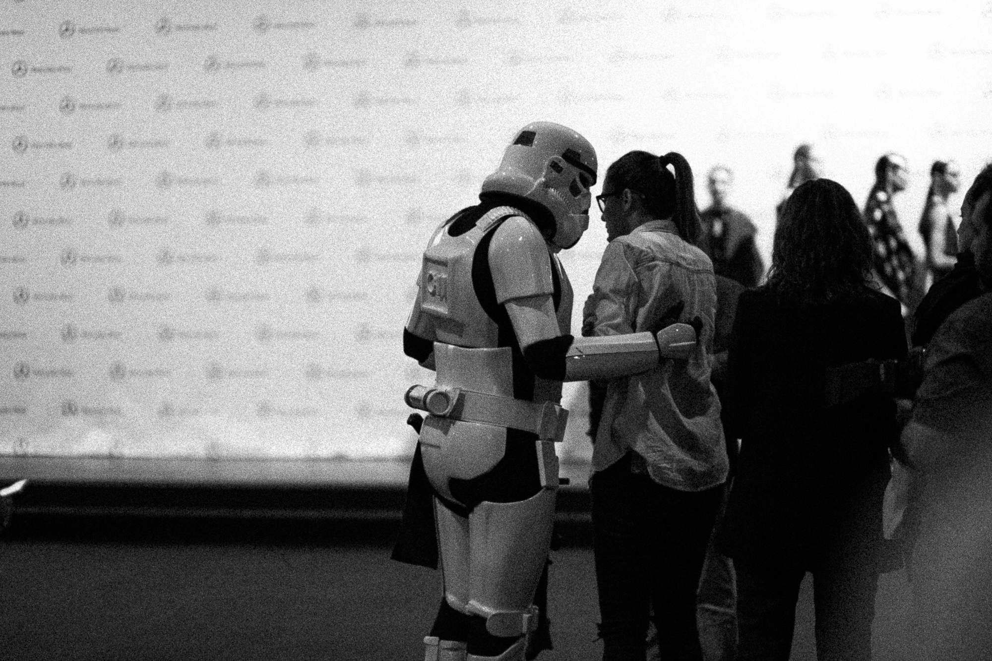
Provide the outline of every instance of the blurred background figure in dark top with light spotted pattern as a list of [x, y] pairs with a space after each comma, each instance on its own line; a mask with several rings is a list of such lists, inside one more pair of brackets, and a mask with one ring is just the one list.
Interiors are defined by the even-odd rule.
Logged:
[[875, 185], [865, 202], [864, 219], [871, 236], [872, 265], [878, 282], [912, 313], [923, 298], [913, 249], [906, 240], [892, 199], [906, 190], [906, 159], [885, 154], [875, 163]]

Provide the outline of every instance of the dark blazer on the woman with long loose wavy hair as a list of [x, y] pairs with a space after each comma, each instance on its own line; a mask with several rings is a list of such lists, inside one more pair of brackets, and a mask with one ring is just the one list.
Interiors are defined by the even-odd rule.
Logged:
[[824, 368], [906, 353], [899, 302], [873, 290], [805, 309], [767, 287], [741, 294], [727, 384], [741, 454], [723, 553], [806, 567], [837, 553], [879, 558], [895, 403], [872, 394], [827, 409]]

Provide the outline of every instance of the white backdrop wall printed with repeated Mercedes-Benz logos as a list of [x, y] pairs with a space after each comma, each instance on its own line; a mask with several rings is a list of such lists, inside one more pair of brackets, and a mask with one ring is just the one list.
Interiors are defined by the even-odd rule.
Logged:
[[990, 29], [987, 0], [0, 0], [0, 455], [411, 454], [420, 250], [534, 119], [604, 166], [682, 151], [703, 203], [730, 166], [766, 256], [797, 144], [859, 201], [902, 152], [919, 248], [930, 162], [992, 153]]

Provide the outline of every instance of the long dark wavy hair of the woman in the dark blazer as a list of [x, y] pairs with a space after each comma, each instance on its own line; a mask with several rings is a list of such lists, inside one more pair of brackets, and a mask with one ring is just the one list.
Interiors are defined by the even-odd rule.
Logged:
[[864, 293], [871, 266], [871, 239], [851, 194], [814, 179], [785, 202], [765, 288], [800, 305], [829, 303]]

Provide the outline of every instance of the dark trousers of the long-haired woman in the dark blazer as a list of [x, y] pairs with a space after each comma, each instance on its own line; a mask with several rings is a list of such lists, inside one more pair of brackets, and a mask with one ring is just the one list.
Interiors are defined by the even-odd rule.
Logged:
[[[801, 567], [734, 560], [737, 572], [737, 661], [789, 661]], [[856, 563], [813, 569], [818, 661], [869, 661], [878, 573]]]

